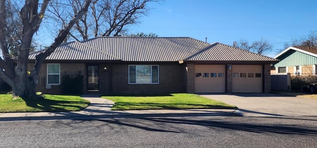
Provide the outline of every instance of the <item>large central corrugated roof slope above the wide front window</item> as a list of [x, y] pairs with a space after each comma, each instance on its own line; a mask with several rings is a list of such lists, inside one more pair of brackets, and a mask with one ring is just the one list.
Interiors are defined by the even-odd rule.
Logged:
[[210, 45], [187, 37], [98, 37], [82, 43], [122, 61], [178, 61]]

